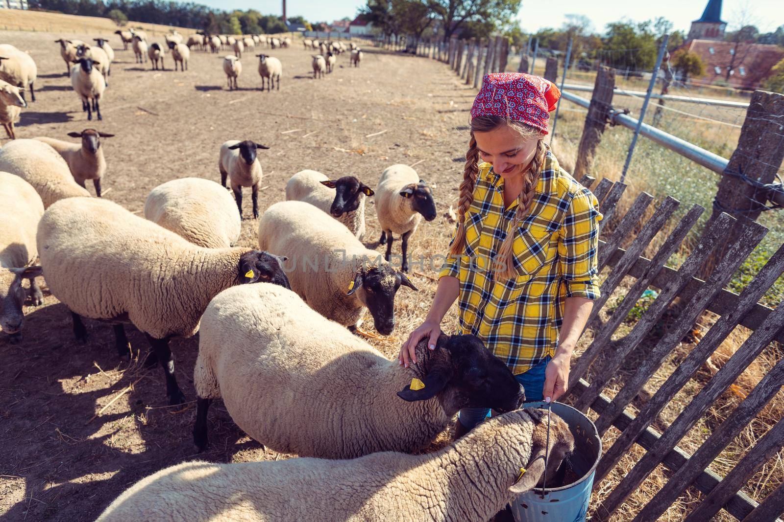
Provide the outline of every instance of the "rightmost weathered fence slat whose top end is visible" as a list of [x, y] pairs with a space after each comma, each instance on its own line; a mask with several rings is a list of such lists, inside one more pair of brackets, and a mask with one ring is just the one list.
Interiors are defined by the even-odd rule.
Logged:
[[612, 424], [612, 419], [615, 419], [626, 408], [626, 405], [637, 396], [664, 358], [691, 330], [708, 302], [728, 283], [735, 270], [751, 254], [751, 251], [760, 243], [767, 232], [768, 229], [764, 226], [752, 221], [735, 239], [735, 243], [731, 245], [727, 254], [719, 261], [710, 277], [702, 285], [702, 291], [686, 303], [675, 324], [667, 329], [664, 336], [659, 339], [645, 360], [637, 367], [637, 371], [623, 384], [621, 390], [613, 398], [610, 407], [596, 420], [595, 424], [600, 434], [604, 434], [604, 431]]

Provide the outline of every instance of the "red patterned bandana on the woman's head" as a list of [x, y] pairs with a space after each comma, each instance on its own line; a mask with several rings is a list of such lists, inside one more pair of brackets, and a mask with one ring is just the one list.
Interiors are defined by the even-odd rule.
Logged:
[[507, 117], [547, 134], [547, 120], [559, 98], [561, 91], [543, 77], [525, 73], [492, 73], [482, 81], [482, 88], [471, 107], [471, 118]]

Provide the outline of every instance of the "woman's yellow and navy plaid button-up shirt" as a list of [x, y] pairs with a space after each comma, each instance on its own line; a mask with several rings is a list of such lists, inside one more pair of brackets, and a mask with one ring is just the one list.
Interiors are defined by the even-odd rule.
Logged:
[[532, 209], [515, 230], [517, 277], [499, 282], [492, 260], [516, 208], [517, 202], [504, 209], [503, 178], [491, 164], [480, 164], [474, 202], [465, 217], [466, 252], [447, 257], [439, 274], [459, 279], [460, 333], [483, 340], [515, 375], [554, 355], [565, 297], [599, 297], [602, 218], [596, 196], [548, 151]]

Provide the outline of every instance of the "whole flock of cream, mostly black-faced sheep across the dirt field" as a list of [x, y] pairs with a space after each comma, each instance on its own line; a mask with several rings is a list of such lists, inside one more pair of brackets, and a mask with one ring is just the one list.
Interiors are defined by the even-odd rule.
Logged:
[[[183, 45], [167, 40], [169, 49]], [[75, 49], [71, 77], [97, 74], [103, 87], [111, 59], [106, 42], [96, 43], [60, 41], [64, 53]], [[162, 59], [159, 45], [147, 52]], [[180, 56], [187, 67], [187, 54]], [[172, 405], [185, 397], [169, 340], [198, 332], [198, 449], [208, 445], [209, 405], [222, 398], [250, 437], [299, 455], [182, 463], [133, 485], [99, 520], [303, 520], [316, 513], [325, 520], [488, 520], [539, 482], [545, 452], [553, 476], [572, 451], [563, 420], [554, 417], [547, 437], [541, 412], [518, 409], [520, 384], [477, 337], [442, 333], [432, 351], [423, 340], [416, 363], [404, 367], [356, 335], [374, 335], [358, 327], [365, 311], [379, 333], [391, 333], [397, 290], [417, 290], [405, 275], [408, 240], [423, 218], [436, 217], [436, 207], [412, 167], [388, 167], [376, 189], [354, 176], [300, 171], [286, 183], [285, 201], [260, 214], [259, 153], [269, 147], [230, 140], [217, 153], [220, 184], [165, 182], [151, 191], [140, 217], [100, 197], [100, 139], [112, 135], [91, 128], [69, 135], [80, 142], [16, 139], [0, 149], [0, 327], [21, 340], [23, 304], [27, 294], [42, 304], [36, 278], [43, 276], [71, 311], [82, 343], [82, 318], [113, 326], [120, 358], [130, 356], [125, 325], [142, 332], [151, 344], [147, 364], [162, 366]], [[97, 197], [85, 189], [89, 179]], [[252, 191], [258, 249], [233, 246], [243, 188]], [[361, 242], [368, 197], [376, 200], [383, 256]], [[390, 262], [394, 235], [401, 236], [399, 270]], [[441, 451], [411, 455], [466, 407], [502, 415]]]

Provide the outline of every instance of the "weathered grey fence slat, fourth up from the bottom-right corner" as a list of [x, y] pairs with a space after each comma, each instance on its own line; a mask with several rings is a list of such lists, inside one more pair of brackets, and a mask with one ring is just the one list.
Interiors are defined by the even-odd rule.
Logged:
[[[626, 477], [623, 477], [621, 483], [615, 487], [604, 501], [604, 506], [606, 506], [608, 511], [616, 509], [632, 491], [640, 486], [645, 477], [648, 477], [661, 462], [661, 455], [666, 454], [666, 452], [675, 447], [677, 441], [680, 441], [681, 437], [688, 430], [691, 430], [691, 427], [710, 408], [713, 401], [716, 401], [730, 384], [735, 382], [742, 371], [753, 362], [754, 358], [760, 355], [764, 347], [770, 344], [775, 337], [775, 333], [782, 329], [782, 325], [784, 325], [784, 306], [779, 306], [779, 308], [771, 311], [763, 324], [754, 330], [751, 336], [746, 339], [746, 342], [739, 347], [738, 351], [732, 355], [728, 362], [724, 363], [724, 366], [707, 383], [706, 387], [703, 387], [699, 394], [691, 400], [688, 406], [684, 408], [684, 411], [677, 416], [677, 419], [662, 434], [659, 441], [649, 449], [648, 453], [634, 465], [629, 473], [626, 473]], [[779, 361], [779, 365], [782, 364], [782, 361]], [[736, 409], [735, 412], [738, 412], [738, 410]], [[733, 416], [735, 416], [735, 413], [733, 413]]]

